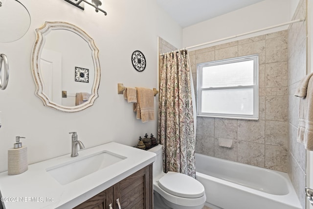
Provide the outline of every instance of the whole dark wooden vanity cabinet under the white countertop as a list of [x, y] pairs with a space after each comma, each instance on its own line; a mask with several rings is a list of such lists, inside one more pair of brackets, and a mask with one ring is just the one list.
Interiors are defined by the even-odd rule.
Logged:
[[152, 164], [138, 170], [119, 183], [91, 197], [74, 209], [153, 209]]

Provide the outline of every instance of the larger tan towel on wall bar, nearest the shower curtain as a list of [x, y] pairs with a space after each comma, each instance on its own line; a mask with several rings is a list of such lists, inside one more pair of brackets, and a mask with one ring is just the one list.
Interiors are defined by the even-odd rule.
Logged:
[[134, 103], [134, 112], [136, 118], [142, 122], [148, 122], [155, 119], [154, 93], [152, 89], [136, 87], [137, 103]]

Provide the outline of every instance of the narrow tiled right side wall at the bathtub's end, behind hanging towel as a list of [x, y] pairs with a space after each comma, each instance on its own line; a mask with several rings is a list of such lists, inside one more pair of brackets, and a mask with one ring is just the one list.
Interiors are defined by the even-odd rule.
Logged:
[[[300, 0], [293, 19], [306, 17], [306, 0]], [[289, 90], [289, 176], [299, 197], [302, 208], [305, 208], [304, 188], [306, 186], [306, 150], [296, 142], [299, 119], [299, 98], [294, 92], [299, 81], [306, 75], [306, 22], [294, 23], [288, 30], [288, 90]]]

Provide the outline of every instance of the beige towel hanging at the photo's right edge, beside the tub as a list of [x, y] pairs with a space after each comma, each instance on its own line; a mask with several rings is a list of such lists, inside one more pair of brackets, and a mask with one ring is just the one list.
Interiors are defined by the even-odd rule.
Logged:
[[299, 124], [297, 141], [307, 150], [313, 151], [313, 77], [312, 74], [302, 79], [295, 96], [300, 98]]

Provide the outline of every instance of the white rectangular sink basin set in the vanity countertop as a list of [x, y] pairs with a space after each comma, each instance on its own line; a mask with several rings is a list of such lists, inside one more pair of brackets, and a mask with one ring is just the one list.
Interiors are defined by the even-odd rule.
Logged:
[[120, 162], [126, 157], [102, 151], [73, 161], [47, 168], [48, 172], [61, 185], [67, 185], [102, 168]]

